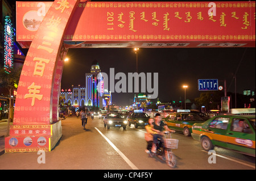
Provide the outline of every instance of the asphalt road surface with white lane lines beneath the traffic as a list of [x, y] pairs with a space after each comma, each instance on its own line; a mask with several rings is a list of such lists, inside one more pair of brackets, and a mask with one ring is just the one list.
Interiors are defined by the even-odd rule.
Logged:
[[[87, 130], [75, 116], [62, 120], [63, 136], [59, 144], [42, 154], [5, 153], [0, 155], [0, 170], [5, 169], [85, 169], [85, 170], [170, 170], [159, 158], [145, 153], [144, 128], [104, 128], [102, 119], [88, 119]], [[234, 151], [215, 148], [208, 155], [199, 142], [182, 133], [172, 134], [179, 140], [177, 167], [171, 170], [255, 170], [255, 158]], [[210, 157], [210, 158], [209, 158]], [[216, 161], [216, 163], [209, 163]], [[41, 159], [42, 160], [42, 159]]]

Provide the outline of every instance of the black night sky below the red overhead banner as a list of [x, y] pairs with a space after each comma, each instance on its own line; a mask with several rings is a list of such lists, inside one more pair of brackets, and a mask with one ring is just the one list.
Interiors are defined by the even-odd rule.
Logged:
[[[184, 2], [184, 1], [183, 1]], [[69, 49], [69, 61], [65, 62], [61, 88], [72, 85], [85, 86], [85, 73], [97, 60], [102, 72], [134, 73], [136, 54], [131, 48], [80, 48]], [[228, 92], [234, 92], [234, 73], [237, 71], [237, 93], [255, 91], [255, 48], [141, 48], [138, 54], [138, 70], [144, 73], [158, 72], [158, 97], [161, 102], [184, 100], [183, 85], [188, 85], [186, 98], [200, 95], [198, 79], [226, 79]], [[118, 82], [118, 81], [115, 81]], [[224, 86], [224, 83], [219, 82]], [[133, 93], [113, 93], [115, 104], [126, 106]]]

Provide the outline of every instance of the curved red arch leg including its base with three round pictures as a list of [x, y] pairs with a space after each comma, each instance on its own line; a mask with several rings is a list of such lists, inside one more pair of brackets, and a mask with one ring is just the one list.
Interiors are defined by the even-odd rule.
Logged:
[[24, 61], [6, 152], [51, 151], [62, 136], [60, 82], [67, 53], [65, 31], [79, 0], [56, 0], [40, 24]]

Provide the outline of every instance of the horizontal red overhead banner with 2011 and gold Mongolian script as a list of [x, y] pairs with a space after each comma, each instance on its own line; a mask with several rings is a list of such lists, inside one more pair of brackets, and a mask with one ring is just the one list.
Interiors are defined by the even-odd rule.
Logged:
[[[49, 6], [47, 3], [51, 2], [46, 2], [46, 11]], [[200, 44], [199, 47], [209, 45], [225, 47], [227, 44], [224, 43], [255, 41], [255, 1], [215, 3], [216, 16], [213, 14], [209, 16], [209, 2], [80, 2], [73, 21], [65, 33], [64, 41], [152, 43], [144, 44], [148, 45], [146, 47], [155, 45], [153, 43], [156, 42], [153, 41], [158, 43], [200, 41], [197, 44]], [[20, 14], [17, 21], [18, 41], [32, 40], [34, 32], [24, 27], [22, 15], [29, 10], [38, 11], [38, 9], [36, 2], [18, 3], [17, 12]], [[207, 45], [203, 44], [204, 42], [222, 44]], [[183, 47], [188, 46], [185, 43], [182, 44]], [[168, 45], [175, 46], [175, 44]], [[168, 45], [166, 43], [164, 46], [168, 47]], [[232, 45], [228, 44], [229, 47]]]

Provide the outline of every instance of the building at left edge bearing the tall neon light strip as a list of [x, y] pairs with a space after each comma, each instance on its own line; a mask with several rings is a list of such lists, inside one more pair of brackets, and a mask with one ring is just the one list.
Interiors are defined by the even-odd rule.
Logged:
[[[25, 56], [15, 43], [16, 32], [13, 26], [15, 22], [12, 15], [13, 9], [7, 0], [1, 0], [0, 6], [0, 67], [5, 69], [6, 73], [9, 73], [11, 70], [23, 66]], [[17, 86], [14, 86], [11, 95], [7, 87], [0, 88], [0, 120], [7, 119], [9, 112], [11, 113], [11, 119], [13, 118], [13, 106], [9, 110], [9, 103], [11, 102], [11, 105], [15, 103]]]

